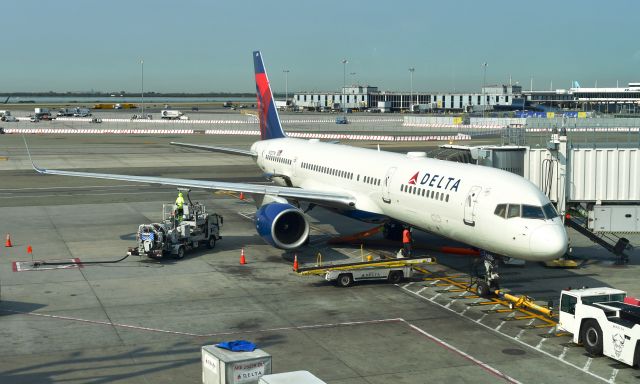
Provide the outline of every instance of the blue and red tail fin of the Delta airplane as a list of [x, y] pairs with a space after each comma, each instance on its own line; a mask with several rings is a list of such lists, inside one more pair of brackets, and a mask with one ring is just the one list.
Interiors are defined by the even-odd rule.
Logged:
[[271, 86], [264, 69], [262, 54], [253, 52], [253, 66], [256, 73], [256, 96], [258, 98], [258, 118], [260, 120], [260, 137], [262, 140], [279, 139], [286, 137], [280, 125], [278, 109], [273, 100]]

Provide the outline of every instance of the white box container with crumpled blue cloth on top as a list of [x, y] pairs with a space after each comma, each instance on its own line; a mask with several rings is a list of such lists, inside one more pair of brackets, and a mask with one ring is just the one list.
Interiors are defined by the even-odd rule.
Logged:
[[232, 352], [215, 345], [202, 347], [204, 384], [258, 384], [271, 373], [271, 355], [261, 349]]

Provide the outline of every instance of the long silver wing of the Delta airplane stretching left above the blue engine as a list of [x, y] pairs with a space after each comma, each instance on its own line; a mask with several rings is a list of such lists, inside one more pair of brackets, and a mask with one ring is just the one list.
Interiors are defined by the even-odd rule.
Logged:
[[32, 165], [33, 165], [33, 169], [35, 169], [38, 173], [42, 173], [45, 175], [77, 176], [77, 177], [88, 177], [88, 178], [94, 178], [94, 179], [131, 181], [134, 183], [175, 185], [177, 187], [243, 192], [243, 193], [249, 193], [249, 194], [255, 194], [255, 195], [279, 196], [285, 199], [301, 200], [301, 201], [316, 203], [318, 205], [332, 206], [332, 207], [346, 208], [346, 209], [353, 209], [356, 203], [356, 199], [353, 196], [346, 193], [313, 191], [313, 190], [301, 189], [301, 188], [280, 187], [276, 185], [227, 183], [227, 182], [221, 182], [221, 181], [174, 179], [174, 178], [167, 178], [167, 177], [130, 176], [130, 175], [116, 175], [116, 174], [109, 174], [109, 173], [61, 171], [61, 170], [55, 170], [55, 169], [40, 168], [36, 166], [33, 162], [32, 162]]

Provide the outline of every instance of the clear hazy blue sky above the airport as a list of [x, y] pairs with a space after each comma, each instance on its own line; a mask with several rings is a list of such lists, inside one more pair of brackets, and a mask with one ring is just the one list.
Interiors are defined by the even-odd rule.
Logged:
[[[262, 50], [276, 92], [347, 82], [478, 91], [509, 76], [529, 88], [640, 81], [640, 2], [81, 1], [2, 6], [0, 93], [253, 92]], [[355, 75], [351, 75], [355, 73]]]

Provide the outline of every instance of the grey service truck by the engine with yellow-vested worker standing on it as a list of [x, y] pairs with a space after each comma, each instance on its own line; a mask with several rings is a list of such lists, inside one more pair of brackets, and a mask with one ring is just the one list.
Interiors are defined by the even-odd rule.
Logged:
[[174, 204], [163, 204], [162, 222], [141, 224], [136, 233], [137, 246], [129, 248], [128, 254], [182, 259], [195, 248], [213, 249], [222, 238], [223, 217], [207, 213], [204, 205], [191, 202], [188, 193], [187, 198], [189, 202], [184, 204], [182, 215], [178, 215]]

